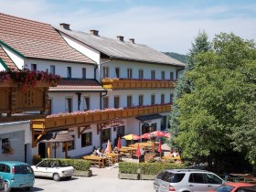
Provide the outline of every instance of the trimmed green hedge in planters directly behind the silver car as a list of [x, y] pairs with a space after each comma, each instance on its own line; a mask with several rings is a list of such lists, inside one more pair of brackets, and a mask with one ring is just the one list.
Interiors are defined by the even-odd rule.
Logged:
[[156, 176], [165, 169], [184, 168], [183, 164], [163, 163], [119, 163], [119, 172], [123, 174], [137, 174]]

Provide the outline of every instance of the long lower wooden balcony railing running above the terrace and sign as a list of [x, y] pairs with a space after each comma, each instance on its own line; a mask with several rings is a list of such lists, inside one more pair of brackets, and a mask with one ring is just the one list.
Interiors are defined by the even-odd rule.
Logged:
[[53, 114], [45, 119], [33, 120], [31, 128], [35, 131], [52, 131], [58, 128], [84, 126], [92, 123], [109, 122], [117, 118], [127, 118], [157, 112], [169, 112], [171, 104], [149, 105], [128, 109], [97, 110], [90, 112], [73, 112]]

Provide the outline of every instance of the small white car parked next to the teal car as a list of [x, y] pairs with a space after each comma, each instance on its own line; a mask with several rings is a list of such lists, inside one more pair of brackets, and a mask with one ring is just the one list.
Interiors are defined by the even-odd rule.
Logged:
[[73, 166], [61, 165], [58, 159], [44, 159], [31, 167], [35, 176], [51, 177], [55, 181], [59, 181], [61, 178], [70, 179], [74, 173]]

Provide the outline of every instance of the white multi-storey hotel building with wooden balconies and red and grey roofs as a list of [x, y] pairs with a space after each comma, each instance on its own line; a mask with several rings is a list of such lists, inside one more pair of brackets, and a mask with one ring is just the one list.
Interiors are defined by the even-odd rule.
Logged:
[[[159, 131], [167, 128], [174, 81], [184, 69], [183, 63], [136, 44], [133, 38], [129, 41], [121, 36], [112, 39], [99, 36], [96, 30], [91, 33], [74, 31], [67, 24], [51, 27], [15, 16], [0, 14], [0, 17], [6, 20], [6, 25], [0, 29], [0, 46], [16, 68], [45, 70], [62, 77], [57, 87], [47, 91], [49, 108], [46, 112], [102, 110], [31, 120], [30, 125], [27, 123], [27, 128], [23, 128], [25, 135], [30, 134], [22, 139], [27, 148], [21, 158], [27, 162], [32, 155], [65, 157], [65, 148], [69, 149], [69, 156], [90, 154], [93, 147], [104, 148], [108, 140], [115, 145], [118, 136], [147, 133], [149, 127]], [[5, 30], [10, 26], [18, 26], [16, 33]], [[31, 31], [29, 36], [24, 35], [26, 30]], [[19, 43], [16, 45], [16, 42]], [[21, 45], [22, 42], [26, 43]], [[8, 66], [2, 58], [2, 65]], [[4, 118], [0, 117], [0, 137], [9, 138], [15, 135], [11, 131], [1, 136], [6, 126]], [[14, 130], [18, 129], [18, 123], [7, 123]], [[20, 123], [25, 127], [25, 122]], [[57, 144], [42, 142], [51, 133], [62, 131], [69, 131], [74, 140]], [[15, 156], [7, 155], [5, 159], [24, 161], [14, 159]]]

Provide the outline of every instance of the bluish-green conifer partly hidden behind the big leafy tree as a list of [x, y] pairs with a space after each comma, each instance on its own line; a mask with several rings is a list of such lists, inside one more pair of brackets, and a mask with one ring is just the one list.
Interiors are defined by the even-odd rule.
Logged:
[[169, 142], [170, 145], [179, 148], [177, 144], [175, 144], [173, 139], [175, 138], [178, 132], [178, 117], [179, 117], [179, 108], [176, 104], [176, 100], [181, 98], [184, 94], [190, 93], [193, 90], [193, 80], [187, 77], [187, 72], [194, 69], [194, 64], [196, 62], [196, 55], [198, 53], [207, 52], [211, 49], [211, 44], [208, 41], [208, 35], [205, 31], [199, 31], [197, 37], [195, 38], [195, 43], [192, 43], [192, 48], [189, 50], [187, 54], [188, 63], [185, 68], [184, 75], [178, 80], [175, 88], [173, 107], [170, 114], [170, 133], [172, 134], [171, 140]]

